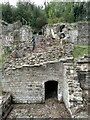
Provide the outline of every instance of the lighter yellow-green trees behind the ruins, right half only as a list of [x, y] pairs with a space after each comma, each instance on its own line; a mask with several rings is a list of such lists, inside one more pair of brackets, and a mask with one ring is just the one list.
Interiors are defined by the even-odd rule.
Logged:
[[[47, 17], [50, 19], [63, 19], [63, 22], [78, 22], [87, 20], [90, 2], [51, 2], [46, 8]], [[61, 20], [62, 20], [61, 19]]]

